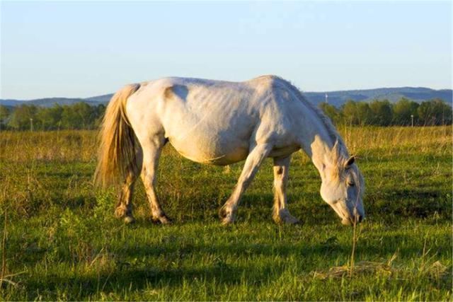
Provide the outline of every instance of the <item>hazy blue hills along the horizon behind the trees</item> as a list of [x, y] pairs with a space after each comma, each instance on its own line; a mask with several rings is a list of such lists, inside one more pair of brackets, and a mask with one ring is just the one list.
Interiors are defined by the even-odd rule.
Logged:
[[[391, 103], [396, 103], [401, 98], [408, 98], [415, 102], [421, 103], [424, 100], [432, 100], [440, 98], [449, 105], [453, 103], [452, 89], [434, 90], [424, 87], [400, 87], [400, 88], [375, 88], [362, 89], [352, 91], [326, 91], [326, 92], [304, 92], [306, 98], [311, 103], [319, 104], [326, 101], [326, 93], [328, 95], [328, 103], [339, 107], [347, 100], [355, 100], [362, 102], [371, 102], [372, 100], [389, 100]], [[21, 104], [33, 104], [42, 107], [51, 107], [55, 103], [59, 105], [71, 105], [78, 102], [85, 102], [90, 105], [98, 105], [108, 103], [113, 94], [97, 95], [91, 98], [40, 98], [35, 100], [11, 100], [0, 99], [0, 105], [18, 106]]]

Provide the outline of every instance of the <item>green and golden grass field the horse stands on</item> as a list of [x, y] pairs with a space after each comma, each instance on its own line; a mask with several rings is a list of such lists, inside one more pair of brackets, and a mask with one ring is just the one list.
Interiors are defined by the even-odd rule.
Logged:
[[[115, 190], [91, 178], [96, 132], [0, 132], [2, 300], [447, 300], [452, 296], [452, 127], [340, 129], [367, 184], [367, 219], [340, 225], [303, 153], [292, 159], [289, 209], [271, 219], [265, 164], [233, 226], [221, 226], [242, 163], [198, 165], [166, 146], [158, 191], [174, 223], [113, 216]], [[5, 231], [6, 230], [6, 231]]]

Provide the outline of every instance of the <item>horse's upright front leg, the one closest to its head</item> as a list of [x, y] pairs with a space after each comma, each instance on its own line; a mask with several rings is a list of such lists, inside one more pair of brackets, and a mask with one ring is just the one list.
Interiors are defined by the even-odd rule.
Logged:
[[299, 223], [287, 209], [286, 186], [291, 156], [274, 158], [274, 207], [273, 219], [276, 223]]

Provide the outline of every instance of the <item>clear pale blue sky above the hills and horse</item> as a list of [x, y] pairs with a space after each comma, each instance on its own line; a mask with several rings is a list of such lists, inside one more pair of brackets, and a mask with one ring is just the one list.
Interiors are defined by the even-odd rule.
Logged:
[[452, 3], [2, 1], [0, 98], [164, 76], [277, 74], [302, 91], [452, 88]]

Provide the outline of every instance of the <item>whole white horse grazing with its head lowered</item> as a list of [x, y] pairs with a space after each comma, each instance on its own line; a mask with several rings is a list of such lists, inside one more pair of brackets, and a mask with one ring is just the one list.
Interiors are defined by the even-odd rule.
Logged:
[[[287, 209], [291, 154], [304, 150], [321, 175], [321, 197], [342, 223], [360, 222], [364, 182], [343, 140], [319, 109], [277, 76], [244, 82], [166, 78], [125, 86], [113, 95], [101, 131], [96, 179], [122, 182], [115, 214], [129, 223], [132, 190], [141, 175], [155, 221], [168, 223], [156, 195], [156, 168], [167, 142], [197, 163], [245, 160], [231, 197], [219, 214], [233, 223], [236, 209], [261, 163], [274, 161], [273, 219], [297, 223]], [[137, 144], [138, 142], [138, 144]]]

